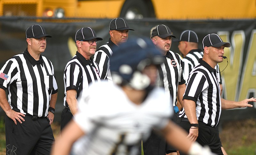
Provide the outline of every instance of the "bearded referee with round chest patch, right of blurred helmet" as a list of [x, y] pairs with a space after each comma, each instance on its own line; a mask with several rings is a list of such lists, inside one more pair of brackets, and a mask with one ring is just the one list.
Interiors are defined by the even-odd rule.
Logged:
[[[185, 92], [185, 80], [183, 78], [182, 61], [180, 56], [170, 50], [172, 44], [172, 31], [166, 25], [157, 25], [151, 33], [152, 42], [162, 51], [164, 63], [158, 69], [160, 83], [163, 83], [166, 94], [169, 96], [170, 105], [174, 107], [174, 121], [178, 117], [179, 108], [177, 107], [177, 98], [182, 102], [182, 97]], [[174, 148], [167, 145], [165, 140], [152, 132], [149, 139], [143, 143], [145, 155], [149, 154], [169, 154], [176, 152]], [[176, 153], [177, 154], [177, 153]]]

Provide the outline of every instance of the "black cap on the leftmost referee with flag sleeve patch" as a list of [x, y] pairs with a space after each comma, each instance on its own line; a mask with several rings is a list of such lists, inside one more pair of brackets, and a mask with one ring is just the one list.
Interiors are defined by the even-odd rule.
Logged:
[[51, 38], [51, 35], [46, 35], [44, 27], [40, 25], [32, 25], [27, 28], [26, 30], [26, 38], [42, 38], [42, 37], [49, 37]]

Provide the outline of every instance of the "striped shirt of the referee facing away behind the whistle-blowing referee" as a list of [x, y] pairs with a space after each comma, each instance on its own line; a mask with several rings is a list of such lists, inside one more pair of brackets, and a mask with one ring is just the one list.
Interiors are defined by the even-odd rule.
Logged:
[[[185, 58], [182, 59], [182, 68], [184, 71], [184, 79], [186, 83], [188, 82], [189, 73], [192, 69], [198, 64], [199, 58], [203, 58], [204, 53], [200, 49], [190, 50]], [[222, 84], [221, 75], [220, 75], [220, 67], [219, 64], [215, 66], [217, 72], [217, 76], [219, 79], [219, 83]]]

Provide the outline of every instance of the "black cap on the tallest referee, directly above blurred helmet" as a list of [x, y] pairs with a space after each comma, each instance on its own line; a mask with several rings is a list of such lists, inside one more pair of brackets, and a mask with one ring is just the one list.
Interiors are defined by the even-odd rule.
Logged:
[[109, 31], [111, 30], [132, 30], [134, 29], [129, 28], [127, 21], [123, 18], [115, 18], [112, 19], [109, 23]]

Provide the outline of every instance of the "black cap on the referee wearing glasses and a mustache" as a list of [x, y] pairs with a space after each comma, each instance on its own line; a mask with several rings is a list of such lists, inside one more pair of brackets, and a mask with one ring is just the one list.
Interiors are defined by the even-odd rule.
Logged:
[[76, 31], [76, 41], [92, 39], [103, 40], [102, 38], [96, 36], [96, 32], [91, 27], [83, 27]]

